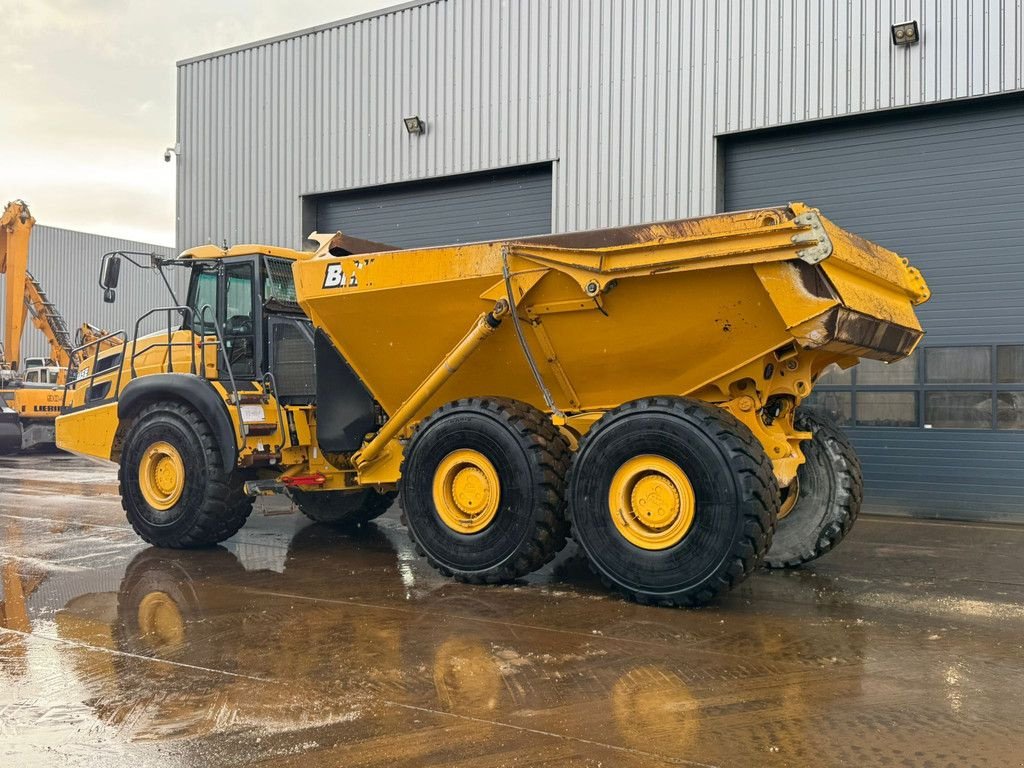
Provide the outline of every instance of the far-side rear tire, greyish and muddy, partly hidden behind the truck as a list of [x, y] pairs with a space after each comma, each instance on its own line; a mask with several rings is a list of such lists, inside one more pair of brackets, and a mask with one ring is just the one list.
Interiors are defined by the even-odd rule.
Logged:
[[853, 528], [863, 498], [860, 460], [836, 423], [799, 410], [795, 426], [814, 436], [801, 445], [807, 461], [797, 471], [800, 496], [775, 528], [765, 557], [771, 568], [803, 565], [835, 549]]

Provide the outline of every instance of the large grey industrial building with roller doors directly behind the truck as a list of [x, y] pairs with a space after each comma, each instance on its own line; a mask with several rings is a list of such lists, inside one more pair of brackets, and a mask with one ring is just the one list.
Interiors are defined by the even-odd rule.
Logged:
[[419, 246], [806, 201], [934, 293], [908, 361], [819, 387], [866, 508], [1020, 519], [1022, 87], [1019, 0], [412, 2], [179, 62], [177, 240]]

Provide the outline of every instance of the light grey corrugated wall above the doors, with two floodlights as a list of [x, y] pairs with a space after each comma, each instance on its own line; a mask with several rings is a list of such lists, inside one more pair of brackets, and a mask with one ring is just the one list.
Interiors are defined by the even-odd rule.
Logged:
[[303, 195], [549, 160], [556, 230], [698, 215], [718, 134], [1021, 88], [1024, 0], [415, 3], [181, 62], [177, 237], [295, 246]]

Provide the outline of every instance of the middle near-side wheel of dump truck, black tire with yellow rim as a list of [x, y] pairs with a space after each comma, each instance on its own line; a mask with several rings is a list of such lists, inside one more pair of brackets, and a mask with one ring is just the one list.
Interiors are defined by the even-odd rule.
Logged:
[[[417, 551], [444, 575], [472, 584], [537, 570], [565, 546], [568, 455], [565, 438], [532, 406], [499, 397], [442, 406], [417, 427], [398, 482]], [[459, 501], [457, 483], [465, 493]]]

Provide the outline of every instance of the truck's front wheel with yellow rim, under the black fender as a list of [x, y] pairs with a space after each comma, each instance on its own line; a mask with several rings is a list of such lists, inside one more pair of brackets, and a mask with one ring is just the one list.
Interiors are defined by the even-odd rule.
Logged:
[[173, 400], [139, 412], [124, 441], [118, 480], [128, 522], [157, 547], [217, 544], [252, 512], [244, 478], [223, 466], [206, 420]]

